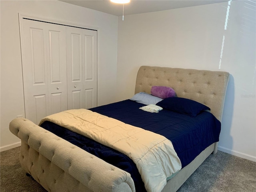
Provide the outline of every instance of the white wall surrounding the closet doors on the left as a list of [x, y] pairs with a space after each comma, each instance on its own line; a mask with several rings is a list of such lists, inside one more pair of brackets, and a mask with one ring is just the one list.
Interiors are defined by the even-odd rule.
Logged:
[[114, 102], [118, 17], [57, 0], [0, 1], [1, 8], [1, 150], [19, 145], [9, 122], [24, 116], [18, 13], [99, 28], [98, 105]]

